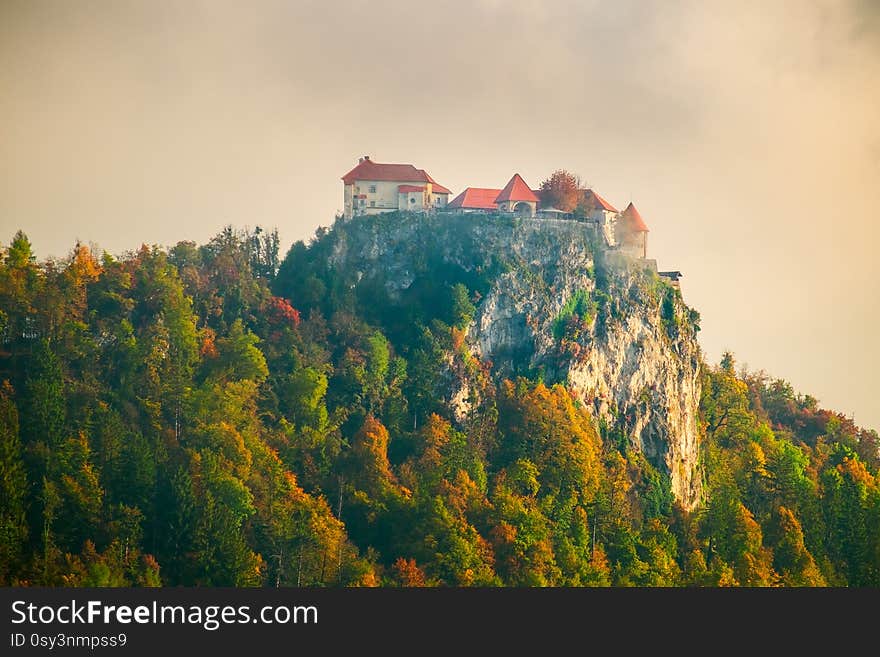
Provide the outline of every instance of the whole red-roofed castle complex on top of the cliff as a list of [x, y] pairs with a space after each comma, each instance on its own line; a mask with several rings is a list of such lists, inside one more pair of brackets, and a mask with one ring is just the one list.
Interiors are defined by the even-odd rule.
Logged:
[[[632, 202], [621, 212], [592, 189], [580, 192], [577, 217], [541, 203], [541, 191], [532, 189], [518, 173], [502, 188], [466, 187], [449, 200], [451, 192], [424, 169], [412, 164], [382, 164], [364, 155], [351, 171], [342, 176], [343, 216], [410, 212], [457, 211], [466, 213], [508, 213], [543, 219], [576, 219], [592, 224], [606, 247], [616, 253], [644, 261], [657, 271], [656, 261], [648, 260], [648, 226]], [[658, 272], [678, 288], [681, 272]]]

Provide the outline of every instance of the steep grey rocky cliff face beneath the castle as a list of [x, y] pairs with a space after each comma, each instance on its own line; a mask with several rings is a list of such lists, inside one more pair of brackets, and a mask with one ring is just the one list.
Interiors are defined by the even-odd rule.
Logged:
[[[457, 275], [476, 307], [470, 354], [498, 376], [564, 383], [606, 439], [628, 441], [685, 507], [697, 503], [698, 315], [644, 261], [607, 251], [588, 224], [498, 215], [358, 218], [338, 223], [332, 243], [331, 267], [390, 298]], [[453, 388], [462, 417], [478, 392], [461, 370]]]

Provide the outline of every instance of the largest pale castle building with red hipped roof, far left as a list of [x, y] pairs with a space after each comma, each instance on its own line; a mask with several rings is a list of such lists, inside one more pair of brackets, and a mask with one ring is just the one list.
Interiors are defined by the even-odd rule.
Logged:
[[343, 216], [395, 210], [427, 212], [446, 207], [451, 193], [412, 164], [381, 164], [369, 155], [342, 176]]

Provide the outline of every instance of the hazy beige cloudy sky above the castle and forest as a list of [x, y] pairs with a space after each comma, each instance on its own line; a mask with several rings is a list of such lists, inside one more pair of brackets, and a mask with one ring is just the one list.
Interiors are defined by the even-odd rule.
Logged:
[[700, 343], [880, 429], [875, 0], [0, 1], [0, 244], [120, 254], [564, 168], [647, 222]]

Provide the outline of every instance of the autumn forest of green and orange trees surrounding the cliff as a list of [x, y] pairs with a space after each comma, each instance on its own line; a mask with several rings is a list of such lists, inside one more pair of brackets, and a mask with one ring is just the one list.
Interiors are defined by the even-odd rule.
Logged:
[[704, 499], [558, 382], [473, 363], [480, 291], [342, 285], [326, 229], [0, 253], [0, 585], [880, 586], [880, 440], [703, 363]]

